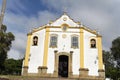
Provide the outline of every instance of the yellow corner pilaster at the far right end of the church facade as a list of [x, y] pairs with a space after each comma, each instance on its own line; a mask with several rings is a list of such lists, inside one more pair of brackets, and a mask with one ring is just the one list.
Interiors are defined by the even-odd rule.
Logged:
[[102, 57], [102, 40], [101, 36], [97, 37], [97, 43], [98, 43], [98, 64], [99, 64], [99, 69], [103, 69], [103, 57]]

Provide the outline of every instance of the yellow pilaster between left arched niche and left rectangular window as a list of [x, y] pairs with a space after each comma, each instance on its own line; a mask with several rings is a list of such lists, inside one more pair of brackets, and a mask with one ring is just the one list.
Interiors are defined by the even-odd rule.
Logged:
[[43, 66], [45, 67], [47, 67], [49, 31], [50, 28], [46, 28], [45, 41], [44, 41], [44, 57], [43, 57]]

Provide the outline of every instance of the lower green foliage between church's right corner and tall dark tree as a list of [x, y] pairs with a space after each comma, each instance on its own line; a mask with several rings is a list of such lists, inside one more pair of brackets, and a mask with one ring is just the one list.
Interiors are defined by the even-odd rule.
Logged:
[[120, 69], [116, 68], [114, 57], [109, 51], [103, 51], [103, 62], [105, 64], [105, 76], [117, 80]]

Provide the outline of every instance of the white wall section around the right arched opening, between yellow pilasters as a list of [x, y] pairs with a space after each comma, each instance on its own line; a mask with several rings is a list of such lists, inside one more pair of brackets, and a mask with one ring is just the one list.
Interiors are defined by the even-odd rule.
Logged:
[[[84, 30], [84, 61], [85, 68], [89, 69], [89, 75], [98, 76], [98, 49], [90, 48], [90, 38], [96, 35]], [[96, 40], [97, 43], [97, 40]]]

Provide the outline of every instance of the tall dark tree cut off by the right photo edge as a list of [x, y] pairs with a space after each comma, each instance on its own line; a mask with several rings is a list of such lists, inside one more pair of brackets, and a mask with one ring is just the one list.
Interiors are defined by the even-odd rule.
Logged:
[[111, 53], [117, 62], [116, 67], [120, 69], [120, 37], [112, 41]]

